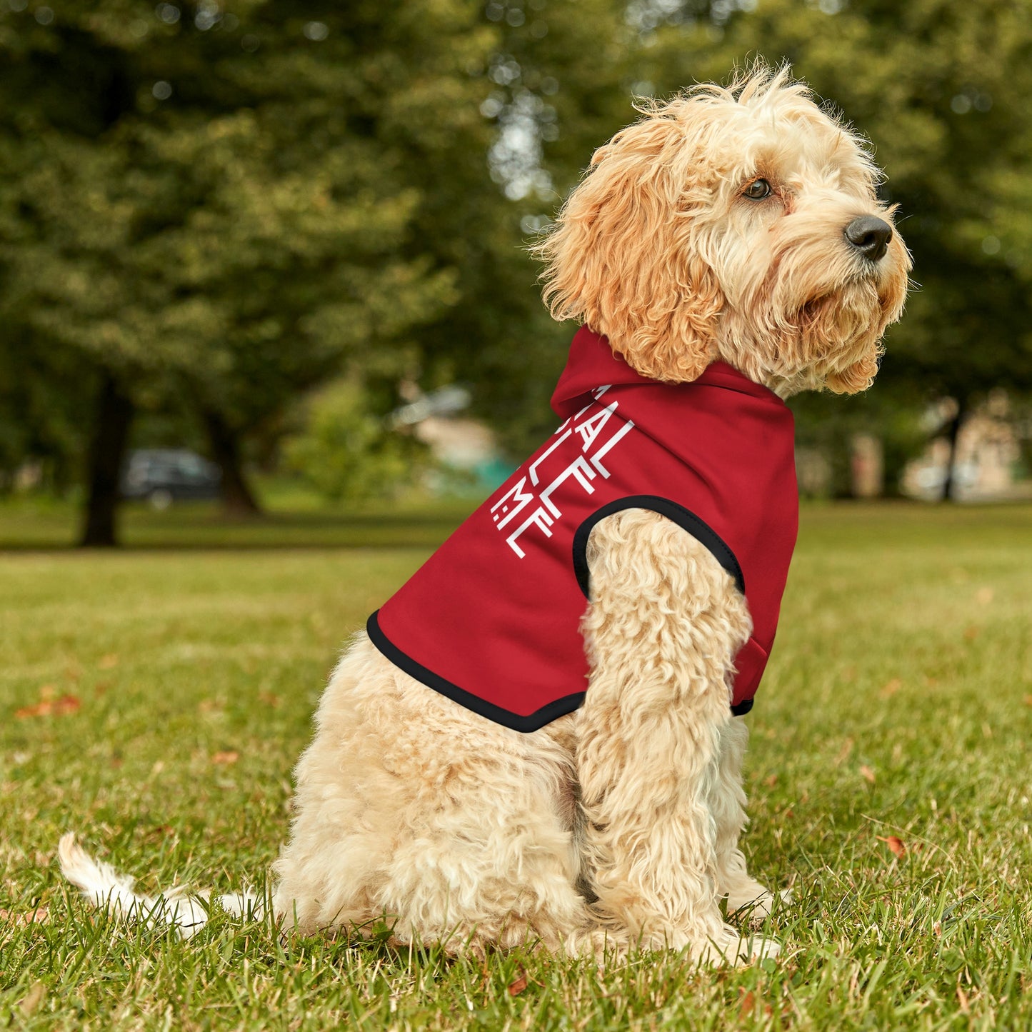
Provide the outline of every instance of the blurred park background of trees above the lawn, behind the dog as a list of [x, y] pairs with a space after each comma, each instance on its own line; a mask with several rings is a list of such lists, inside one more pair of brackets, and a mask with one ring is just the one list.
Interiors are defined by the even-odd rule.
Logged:
[[1028, 0], [0, 0], [0, 543], [469, 508], [554, 423], [527, 245], [634, 97], [756, 55], [920, 284], [874, 389], [793, 399], [801, 490], [1032, 497]]

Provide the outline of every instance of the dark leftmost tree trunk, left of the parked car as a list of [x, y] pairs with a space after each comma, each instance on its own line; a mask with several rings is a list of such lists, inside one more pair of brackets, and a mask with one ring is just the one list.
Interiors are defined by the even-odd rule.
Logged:
[[88, 497], [86, 520], [79, 545], [85, 548], [112, 548], [118, 544], [116, 515], [119, 505], [119, 476], [129, 440], [133, 405], [115, 378], [104, 374], [97, 398], [96, 421], [88, 456]]

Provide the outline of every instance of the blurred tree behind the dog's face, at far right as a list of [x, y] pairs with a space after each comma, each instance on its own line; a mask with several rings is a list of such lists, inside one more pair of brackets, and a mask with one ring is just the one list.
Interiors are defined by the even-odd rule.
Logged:
[[791, 61], [874, 141], [920, 285], [890, 331], [879, 385], [914, 405], [955, 398], [954, 438], [990, 388], [1032, 388], [1028, 0], [637, 9], [652, 43], [643, 77], [658, 92], [762, 54]]

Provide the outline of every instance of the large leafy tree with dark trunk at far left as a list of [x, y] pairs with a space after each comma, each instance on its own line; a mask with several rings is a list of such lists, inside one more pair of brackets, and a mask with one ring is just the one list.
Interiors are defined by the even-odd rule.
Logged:
[[0, 314], [14, 377], [29, 353], [91, 370], [86, 544], [115, 541], [110, 449], [141, 399], [186, 392], [232, 466], [349, 358], [411, 364], [407, 333], [457, 300], [395, 137], [486, 150], [463, 69], [492, 34], [460, 0], [323, 6], [0, 14]]

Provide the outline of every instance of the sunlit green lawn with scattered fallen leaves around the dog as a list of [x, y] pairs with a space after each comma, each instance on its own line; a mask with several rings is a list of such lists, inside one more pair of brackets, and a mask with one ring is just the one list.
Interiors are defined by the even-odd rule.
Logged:
[[1029, 507], [804, 510], [747, 718], [746, 850], [795, 890], [777, 962], [481, 965], [221, 913], [184, 943], [62, 885], [71, 828], [147, 891], [261, 884], [343, 640], [457, 515], [139, 512], [136, 549], [90, 554], [0, 511], [52, 548], [0, 555], [0, 1027], [1032, 1027]]

